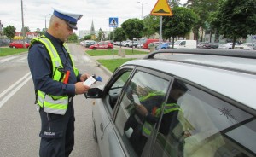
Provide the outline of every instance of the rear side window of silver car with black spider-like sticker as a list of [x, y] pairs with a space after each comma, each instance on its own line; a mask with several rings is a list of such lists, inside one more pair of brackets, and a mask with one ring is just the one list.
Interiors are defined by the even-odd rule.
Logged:
[[[188, 90], [177, 101], [180, 110], [172, 117], [163, 113], [153, 156], [255, 156], [255, 116], [185, 85]], [[166, 121], [171, 123], [167, 134], [161, 131]]]

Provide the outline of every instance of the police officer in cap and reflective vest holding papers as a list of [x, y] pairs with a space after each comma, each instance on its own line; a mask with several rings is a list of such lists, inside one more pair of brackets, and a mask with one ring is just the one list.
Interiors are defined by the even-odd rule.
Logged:
[[69, 156], [73, 150], [73, 96], [90, 89], [83, 84], [90, 76], [74, 67], [65, 41], [82, 16], [54, 9], [49, 29], [34, 38], [29, 48], [28, 64], [41, 118], [41, 157]]

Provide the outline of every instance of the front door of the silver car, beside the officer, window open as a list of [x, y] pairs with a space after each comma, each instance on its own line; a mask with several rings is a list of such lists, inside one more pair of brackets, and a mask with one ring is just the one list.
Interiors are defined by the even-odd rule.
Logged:
[[104, 87], [102, 99], [96, 99], [93, 108], [93, 121], [96, 127], [97, 142], [104, 157], [125, 156], [120, 147], [113, 125], [113, 108], [115, 108], [122, 89], [128, 80], [133, 67], [124, 67], [113, 74], [108, 84]]

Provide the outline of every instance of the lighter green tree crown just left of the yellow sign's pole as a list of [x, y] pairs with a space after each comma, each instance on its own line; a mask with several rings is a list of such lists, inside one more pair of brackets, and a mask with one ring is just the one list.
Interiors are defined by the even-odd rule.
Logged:
[[143, 36], [149, 38], [151, 35], [154, 35], [155, 32], [159, 32], [159, 16], [147, 15], [144, 17], [143, 23]]

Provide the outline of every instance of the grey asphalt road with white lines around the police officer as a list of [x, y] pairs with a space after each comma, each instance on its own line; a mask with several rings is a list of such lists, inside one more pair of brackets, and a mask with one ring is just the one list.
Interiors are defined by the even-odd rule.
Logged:
[[[80, 73], [95, 73], [105, 84], [109, 75], [84, 55], [84, 48], [68, 45]], [[0, 57], [0, 156], [38, 156], [40, 118], [34, 105], [34, 90], [27, 65], [27, 53]], [[71, 157], [98, 157], [92, 137], [91, 99], [75, 96], [75, 146]]]

